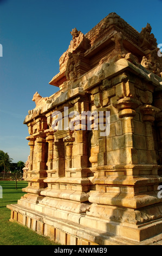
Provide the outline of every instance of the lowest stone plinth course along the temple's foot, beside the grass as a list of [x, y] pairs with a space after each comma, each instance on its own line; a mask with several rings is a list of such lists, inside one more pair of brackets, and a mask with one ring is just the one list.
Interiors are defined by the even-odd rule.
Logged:
[[[7, 208], [11, 210], [10, 221], [25, 225], [61, 245], [152, 245], [162, 239], [160, 234], [162, 218], [134, 225], [107, 222], [83, 214], [80, 215], [80, 223], [74, 223], [47, 216], [18, 204], [7, 205]], [[104, 227], [105, 231], [101, 227]]]

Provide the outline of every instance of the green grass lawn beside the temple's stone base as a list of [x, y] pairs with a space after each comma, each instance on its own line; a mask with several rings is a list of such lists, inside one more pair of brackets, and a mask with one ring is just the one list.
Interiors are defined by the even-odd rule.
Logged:
[[9, 221], [11, 211], [6, 205], [17, 203], [24, 194], [22, 188], [27, 187], [28, 182], [18, 181], [17, 190], [15, 184], [15, 181], [0, 180], [3, 188], [3, 198], [0, 198], [0, 245], [56, 245], [48, 237], [38, 235], [23, 225]]

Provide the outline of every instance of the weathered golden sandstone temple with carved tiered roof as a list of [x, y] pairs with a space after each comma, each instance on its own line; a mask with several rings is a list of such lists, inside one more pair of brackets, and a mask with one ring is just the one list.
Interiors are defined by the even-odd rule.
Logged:
[[7, 206], [10, 221], [62, 245], [160, 239], [162, 58], [151, 31], [115, 13], [87, 34], [72, 30], [49, 82], [58, 92], [36, 92], [24, 120], [28, 186]]

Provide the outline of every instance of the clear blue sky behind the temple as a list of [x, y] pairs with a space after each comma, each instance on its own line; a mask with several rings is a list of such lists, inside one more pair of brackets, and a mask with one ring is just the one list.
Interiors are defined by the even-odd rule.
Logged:
[[57, 92], [49, 81], [59, 72], [72, 28], [86, 34], [115, 12], [139, 32], [150, 23], [161, 44], [161, 10], [161, 0], [0, 0], [0, 149], [13, 162], [27, 160], [23, 120], [35, 107], [35, 92], [43, 97]]

